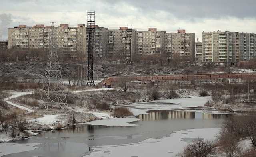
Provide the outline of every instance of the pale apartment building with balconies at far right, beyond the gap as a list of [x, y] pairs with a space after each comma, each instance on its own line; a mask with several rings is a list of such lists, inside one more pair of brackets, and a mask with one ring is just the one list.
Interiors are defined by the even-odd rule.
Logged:
[[234, 65], [256, 58], [256, 35], [238, 32], [203, 32], [202, 62]]

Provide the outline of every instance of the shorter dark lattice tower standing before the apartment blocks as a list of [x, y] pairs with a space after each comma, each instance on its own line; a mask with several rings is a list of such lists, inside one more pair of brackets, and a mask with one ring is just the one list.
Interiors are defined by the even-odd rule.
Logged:
[[127, 50], [127, 56], [126, 56], [126, 64], [132, 64], [132, 25], [127, 25], [126, 30], [126, 50]]

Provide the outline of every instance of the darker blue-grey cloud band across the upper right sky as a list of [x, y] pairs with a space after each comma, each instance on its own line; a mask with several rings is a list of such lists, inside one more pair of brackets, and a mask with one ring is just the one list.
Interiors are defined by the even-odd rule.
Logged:
[[255, 0], [108, 0], [109, 4], [126, 3], [143, 12], [165, 11], [177, 18], [255, 18]]

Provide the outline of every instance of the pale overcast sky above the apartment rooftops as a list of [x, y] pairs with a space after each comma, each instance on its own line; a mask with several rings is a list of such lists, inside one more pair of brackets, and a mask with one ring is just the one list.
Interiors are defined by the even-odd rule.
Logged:
[[[96, 24], [134, 29], [196, 33], [238, 31], [256, 33], [256, 0], [1, 0], [0, 40], [7, 27], [18, 24], [86, 24], [87, 10], [95, 10]], [[2, 35], [1, 35], [2, 33]]]

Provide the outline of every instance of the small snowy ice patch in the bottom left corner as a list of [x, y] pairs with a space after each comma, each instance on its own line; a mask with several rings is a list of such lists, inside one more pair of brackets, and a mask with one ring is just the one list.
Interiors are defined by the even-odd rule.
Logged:
[[0, 144], [0, 157], [8, 154], [20, 153], [24, 151], [31, 151], [36, 149], [36, 145], [40, 143], [33, 144], [15, 144], [15, 143], [1, 143]]

